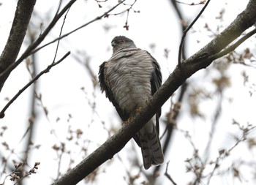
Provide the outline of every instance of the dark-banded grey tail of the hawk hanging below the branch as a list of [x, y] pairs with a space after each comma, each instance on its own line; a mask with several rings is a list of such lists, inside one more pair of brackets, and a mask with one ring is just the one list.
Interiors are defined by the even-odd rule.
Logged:
[[161, 165], [164, 162], [159, 136], [154, 125], [154, 118], [140, 129], [141, 152], [145, 169], [151, 165]]

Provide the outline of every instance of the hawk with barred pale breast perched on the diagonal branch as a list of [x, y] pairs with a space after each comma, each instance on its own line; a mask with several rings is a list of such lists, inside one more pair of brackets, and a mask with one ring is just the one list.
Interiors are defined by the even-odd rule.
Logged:
[[[116, 107], [121, 120], [127, 121], [159, 89], [162, 73], [157, 60], [148, 51], [137, 48], [132, 39], [116, 36], [111, 45], [112, 56], [99, 66], [99, 86]], [[146, 170], [164, 162], [159, 140], [160, 116], [161, 108], [133, 137], [141, 148]]]

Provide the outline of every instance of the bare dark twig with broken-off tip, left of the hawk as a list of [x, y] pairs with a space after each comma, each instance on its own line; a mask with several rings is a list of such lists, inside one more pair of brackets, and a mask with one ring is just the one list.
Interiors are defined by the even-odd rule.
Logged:
[[26, 84], [26, 86], [24, 86], [23, 88], [21, 88], [17, 94], [15, 94], [14, 97], [12, 97], [12, 99], [10, 99], [10, 102], [7, 103], [7, 105], [4, 106], [4, 108], [1, 110], [0, 112], [0, 118], [4, 118], [4, 112], [5, 110], [7, 110], [8, 107], [10, 107], [10, 105], [12, 104], [12, 102], [15, 101], [15, 99], [17, 99], [20, 94], [23, 93], [23, 91], [26, 90], [26, 88], [28, 88], [29, 86], [31, 86], [32, 83], [34, 83], [36, 80], [38, 80], [38, 78], [40, 78], [43, 74], [48, 73], [50, 71], [50, 69], [54, 66], [56, 66], [57, 64], [61, 63], [61, 61], [63, 61], [65, 58], [67, 58], [67, 56], [69, 56], [70, 51], [67, 52], [61, 59], [59, 59], [59, 61], [54, 62], [53, 64], [50, 64], [48, 67], [46, 67], [44, 70], [42, 70], [42, 72], [40, 72], [35, 78], [33, 78], [29, 83]]

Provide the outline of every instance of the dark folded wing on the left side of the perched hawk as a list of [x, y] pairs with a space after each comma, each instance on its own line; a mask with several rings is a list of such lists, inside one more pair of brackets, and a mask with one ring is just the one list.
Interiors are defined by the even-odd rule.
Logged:
[[110, 85], [108, 83], [108, 77], [105, 77], [105, 64], [106, 61], [103, 62], [100, 66], [99, 66], [99, 86], [101, 91], [105, 91], [106, 93], [106, 97], [108, 97], [108, 99], [110, 100], [110, 102], [112, 102], [112, 104], [114, 105], [114, 107], [116, 107], [116, 111], [118, 113], [118, 115], [120, 116], [122, 121], [127, 121], [127, 119], [129, 118], [129, 113], [125, 112], [124, 110], [121, 109], [121, 107], [118, 105], [118, 103], [116, 102], [116, 99], [113, 96], [113, 92], [111, 91]]

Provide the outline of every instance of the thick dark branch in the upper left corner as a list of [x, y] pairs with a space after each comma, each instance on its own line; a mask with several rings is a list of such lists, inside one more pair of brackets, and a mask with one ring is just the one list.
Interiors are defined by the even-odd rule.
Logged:
[[[10, 35], [0, 56], [0, 73], [4, 72], [7, 67], [15, 62], [18, 53], [20, 52], [20, 47], [23, 43], [26, 29], [29, 25], [29, 20], [31, 18], [35, 3], [36, 0], [18, 1], [15, 17], [12, 22], [12, 28], [10, 30]], [[0, 91], [9, 75], [10, 72], [0, 78]]]

